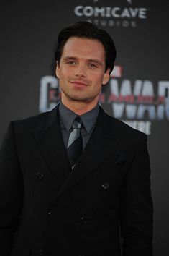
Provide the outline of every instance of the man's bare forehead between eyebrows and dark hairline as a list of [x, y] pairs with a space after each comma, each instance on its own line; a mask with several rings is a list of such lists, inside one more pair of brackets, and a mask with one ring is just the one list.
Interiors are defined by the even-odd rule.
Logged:
[[100, 59], [101, 61], [105, 61], [104, 46], [96, 39], [69, 38], [63, 47], [62, 58], [65, 56]]

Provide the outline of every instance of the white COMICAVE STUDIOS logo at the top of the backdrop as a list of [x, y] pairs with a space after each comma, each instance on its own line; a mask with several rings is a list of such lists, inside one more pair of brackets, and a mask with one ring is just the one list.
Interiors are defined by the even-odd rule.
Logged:
[[149, 11], [147, 7], [135, 7], [132, 0], [126, 0], [123, 7], [113, 5], [113, 2], [111, 6], [105, 6], [101, 0], [91, 1], [91, 5], [81, 1], [81, 4], [73, 7], [76, 17], [102, 27], [137, 27], [139, 22], [147, 19]]

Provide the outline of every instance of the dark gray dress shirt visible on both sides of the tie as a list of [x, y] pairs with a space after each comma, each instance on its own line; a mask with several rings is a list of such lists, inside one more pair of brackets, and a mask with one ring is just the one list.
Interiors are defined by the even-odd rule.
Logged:
[[[83, 150], [86, 147], [88, 140], [91, 137], [91, 133], [96, 125], [96, 120], [99, 114], [99, 104], [96, 105], [91, 111], [86, 112], [81, 115], [81, 120], [83, 121], [83, 127], [81, 129], [81, 135], [83, 139]], [[77, 114], [71, 111], [69, 108], [60, 102], [59, 105], [59, 116], [60, 116], [60, 127], [63, 135], [63, 141], [65, 143], [65, 148], [68, 145], [68, 138], [70, 132], [72, 132], [72, 124], [75, 120]]]

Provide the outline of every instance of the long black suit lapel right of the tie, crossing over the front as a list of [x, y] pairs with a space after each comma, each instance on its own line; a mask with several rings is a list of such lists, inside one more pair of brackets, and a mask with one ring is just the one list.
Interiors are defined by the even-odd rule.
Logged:
[[60, 187], [55, 199], [57, 199], [64, 192], [67, 192], [71, 187], [94, 171], [97, 166], [109, 155], [112, 161], [117, 158], [119, 154], [118, 143], [115, 140], [112, 121], [102, 109], [99, 111], [99, 117], [96, 127], [88, 141], [81, 158], [79, 158], [76, 167], [70, 171], [68, 178], [65, 180], [62, 187]]

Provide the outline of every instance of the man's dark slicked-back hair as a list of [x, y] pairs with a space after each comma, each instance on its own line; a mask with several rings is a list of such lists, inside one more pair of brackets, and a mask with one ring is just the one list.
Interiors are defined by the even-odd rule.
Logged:
[[114, 68], [114, 61], [116, 59], [116, 48], [114, 41], [106, 30], [99, 29], [96, 25], [90, 22], [76, 22], [63, 28], [58, 35], [58, 48], [55, 52], [55, 59], [60, 63], [60, 58], [63, 54], [63, 48], [67, 40], [71, 37], [86, 38], [91, 40], [98, 40], [105, 51], [105, 71], [109, 68], [109, 72]]

